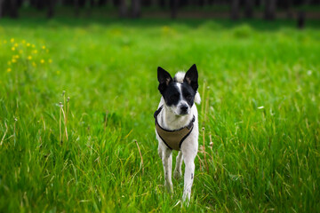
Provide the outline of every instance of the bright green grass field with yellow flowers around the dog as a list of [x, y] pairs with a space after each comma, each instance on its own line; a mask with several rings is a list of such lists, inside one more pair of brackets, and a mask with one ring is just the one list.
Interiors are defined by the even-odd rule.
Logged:
[[[319, 212], [319, 26], [0, 20], [0, 212]], [[182, 179], [164, 192], [153, 113], [156, 67], [194, 63], [187, 208]]]

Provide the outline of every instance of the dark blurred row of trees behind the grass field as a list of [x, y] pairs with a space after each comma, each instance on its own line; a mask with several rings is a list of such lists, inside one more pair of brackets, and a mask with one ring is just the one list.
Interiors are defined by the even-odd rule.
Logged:
[[[202, 12], [220, 12], [221, 17], [232, 20], [254, 18], [257, 14], [265, 20], [274, 20], [279, 12], [285, 12], [287, 18], [304, 19], [305, 10], [316, 8], [318, 12], [319, 4], [320, 0], [0, 0], [0, 18], [19, 18], [20, 11], [28, 9], [45, 12], [47, 18], [52, 18], [62, 8], [71, 9], [75, 16], [83, 11], [90, 15], [100, 8], [132, 19], [145, 12], [167, 12], [165, 14], [174, 19], [180, 11], [194, 12], [195, 16], [201, 16]], [[316, 18], [319, 17], [316, 15]]]

